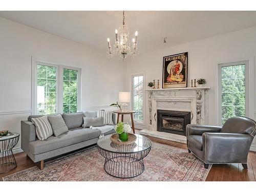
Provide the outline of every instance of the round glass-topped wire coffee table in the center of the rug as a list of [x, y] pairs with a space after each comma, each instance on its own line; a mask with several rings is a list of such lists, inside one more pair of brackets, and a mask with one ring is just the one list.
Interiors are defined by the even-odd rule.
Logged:
[[135, 135], [137, 139], [132, 144], [115, 144], [110, 140], [111, 135], [98, 140], [99, 153], [105, 158], [106, 173], [117, 178], [133, 178], [142, 174], [145, 168], [143, 159], [150, 153], [151, 140]]

